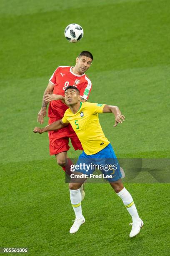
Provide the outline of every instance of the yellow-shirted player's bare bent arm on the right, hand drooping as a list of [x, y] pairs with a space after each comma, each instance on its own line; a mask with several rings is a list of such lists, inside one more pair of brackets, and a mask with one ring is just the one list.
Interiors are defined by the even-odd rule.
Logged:
[[113, 127], [117, 126], [118, 123], [125, 121], [125, 116], [121, 114], [120, 109], [117, 106], [105, 105], [103, 113], [113, 113], [115, 115], [115, 125], [113, 125]]

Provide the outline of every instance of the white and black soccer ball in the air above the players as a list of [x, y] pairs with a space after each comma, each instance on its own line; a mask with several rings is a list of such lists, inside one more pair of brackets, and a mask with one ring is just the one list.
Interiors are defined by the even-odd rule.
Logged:
[[83, 29], [78, 24], [70, 24], [65, 28], [64, 35], [69, 42], [76, 43], [83, 37]]

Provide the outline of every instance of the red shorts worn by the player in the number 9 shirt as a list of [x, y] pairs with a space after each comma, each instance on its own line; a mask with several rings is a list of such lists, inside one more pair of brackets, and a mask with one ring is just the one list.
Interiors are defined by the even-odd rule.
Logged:
[[[57, 121], [57, 118], [49, 118], [49, 124]], [[57, 131], [48, 132], [49, 143], [50, 143], [50, 155], [59, 154], [63, 151], [68, 151], [70, 146], [69, 138], [71, 140], [72, 146], [75, 150], [83, 150], [81, 142], [77, 137], [75, 131], [73, 131], [71, 125], [61, 128]]]

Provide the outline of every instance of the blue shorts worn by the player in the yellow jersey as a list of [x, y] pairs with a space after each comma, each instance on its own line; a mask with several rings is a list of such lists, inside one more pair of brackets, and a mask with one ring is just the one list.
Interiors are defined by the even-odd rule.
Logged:
[[81, 172], [90, 177], [95, 169], [100, 169], [103, 174], [102, 178], [107, 179], [108, 182], [117, 181], [122, 177], [120, 165], [111, 144], [94, 155], [86, 155], [82, 151], [76, 165], [78, 166], [76, 172]]

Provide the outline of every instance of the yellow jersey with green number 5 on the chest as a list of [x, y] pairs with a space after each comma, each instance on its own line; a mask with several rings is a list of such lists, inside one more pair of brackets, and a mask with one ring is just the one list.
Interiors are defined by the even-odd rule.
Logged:
[[96, 154], [110, 143], [102, 131], [98, 118], [98, 113], [102, 113], [104, 106], [97, 103], [80, 102], [77, 113], [72, 113], [68, 108], [62, 118], [63, 123], [71, 124], [87, 155]]

